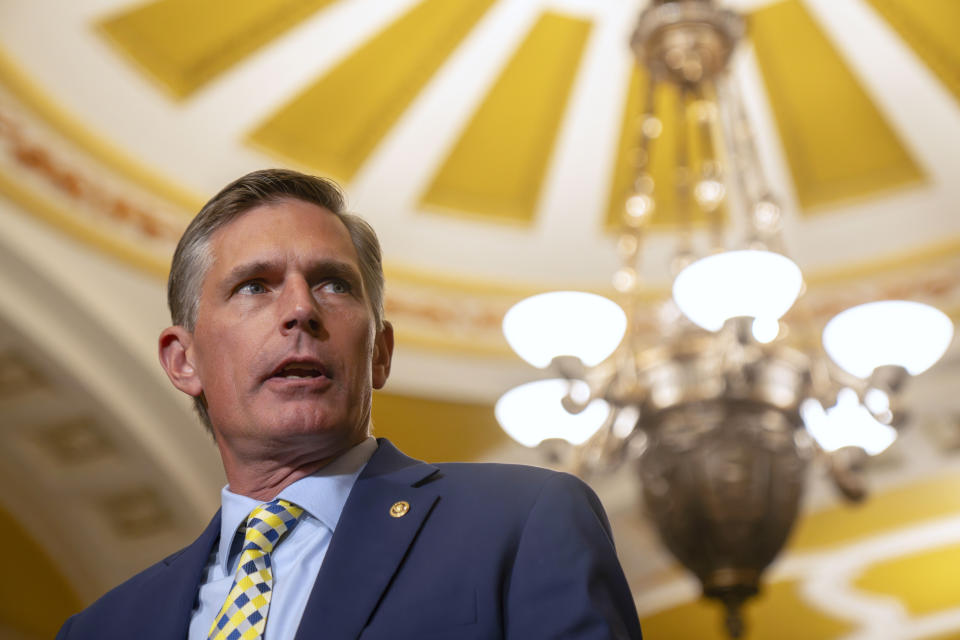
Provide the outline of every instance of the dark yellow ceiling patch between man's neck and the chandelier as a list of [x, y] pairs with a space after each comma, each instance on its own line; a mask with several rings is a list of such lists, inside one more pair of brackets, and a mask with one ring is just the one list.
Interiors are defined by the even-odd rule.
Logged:
[[510, 442], [488, 404], [383, 391], [373, 395], [373, 426], [375, 435], [428, 462], [476, 460]]

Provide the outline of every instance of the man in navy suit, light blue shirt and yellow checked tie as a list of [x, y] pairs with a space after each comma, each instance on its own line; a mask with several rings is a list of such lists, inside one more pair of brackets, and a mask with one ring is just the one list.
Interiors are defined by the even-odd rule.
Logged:
[[596, 496], [370, 437], [390, 373], [373, 230], [333, 183], [251, 173], [181, 238], [160, 335], [223, 460], [189, 547], [66, 622], [80, 638], [640, 638]]

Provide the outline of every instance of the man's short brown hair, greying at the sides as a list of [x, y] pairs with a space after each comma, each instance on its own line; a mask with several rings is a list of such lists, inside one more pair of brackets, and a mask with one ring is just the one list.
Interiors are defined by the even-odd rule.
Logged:
[[[376, 232], [363, 218], [344, 211], [343, 191], [337, 183], [289, 169], [263, 169], [234, 180], [203, 205], [187, 226], [173, 253], [167, 279], [167, 304], [173, 324], [191, 332], [196, 327], [200, 290], [213, 261], [213, 234], [251, 209], [288, 198], [324, 207], [343, 222], [357, 251], [377, 330], [383, 329], [383, 260]], [[200, 419], [211, 429], [203, 397], [194, 400]]]

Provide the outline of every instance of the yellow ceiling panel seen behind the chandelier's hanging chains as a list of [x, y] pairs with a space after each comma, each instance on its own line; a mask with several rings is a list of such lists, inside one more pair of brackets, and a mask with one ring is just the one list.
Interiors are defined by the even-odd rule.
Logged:
[[[620, 128], [620, 144], [617, 147], [617, 159], [614, 163], [613, 181], [610, 188], [610, 201], [607, 207], [606, 226], [617, 229], [621, 224], [624, 201], [632, 193], [636, 178], [637, 153], [640, 144], [640, 128], [643, 124], [643, 110], [647, 102], [650, 80], [646, 70], [639, 65], [633, 66], [630, 76], [630, 88], [627, 91], [623, 109], [623, 125]], [[662, 125], [660, 135], [651, 140], [647, 169], [653, 177], [656, 208], [650, 218], [653, 227], [669, 228], [681, 224], [682, 217], [677, 210], [676, 161], [677, 126], [681, 121], [678, 113], [680, 96], [675, 86], [661, 84], [654, 96], [654, 112]], [[697, 135], [688, 123], [686, 135], [689, 141], [688, 165], [695, 170], [701, 162], [701, 153], [696, 145]], [[696, 175], [696, 174], [695, 174]], [[694, 226], [703, 226], [707, 216], [690, 198], [690, 222]], [[723, 211], [720, 212], [724, 216]]]

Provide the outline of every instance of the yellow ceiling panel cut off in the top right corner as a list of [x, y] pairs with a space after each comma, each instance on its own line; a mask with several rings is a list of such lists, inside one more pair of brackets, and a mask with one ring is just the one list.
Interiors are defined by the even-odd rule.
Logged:
[[960, 100], [960, 2], [867, 0]]

